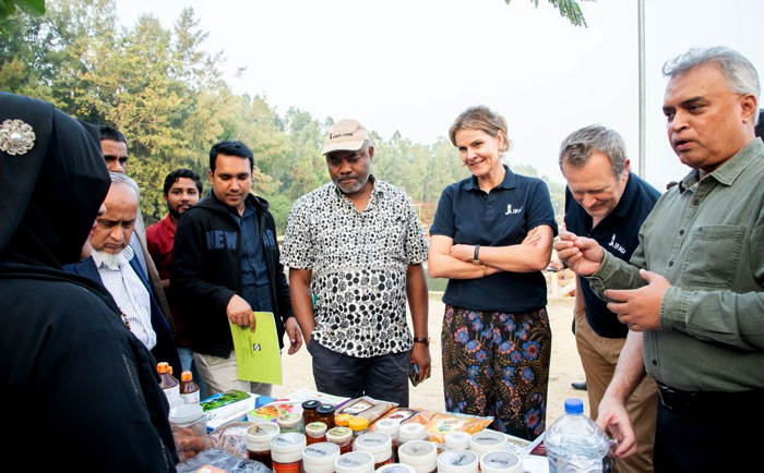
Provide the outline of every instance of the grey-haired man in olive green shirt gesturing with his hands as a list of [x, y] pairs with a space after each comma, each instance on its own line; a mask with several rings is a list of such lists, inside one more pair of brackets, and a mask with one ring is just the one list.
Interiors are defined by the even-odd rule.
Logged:
[[570, 232], [556, 248], [630, 328], [599, 404], [616, 456], [635, 450], [624, 402], [646, 369], [660, 395], [655, 471], [743, 471], [764, 424], [759, 76], [724, 47], [690, 50], [664, 74], [669, 142], [693, 170], [658, 201], [630, 263]]

